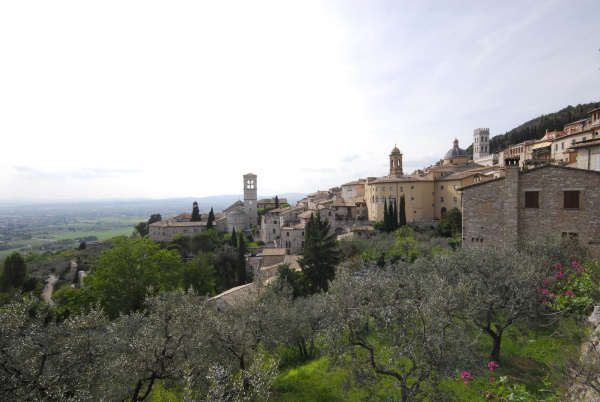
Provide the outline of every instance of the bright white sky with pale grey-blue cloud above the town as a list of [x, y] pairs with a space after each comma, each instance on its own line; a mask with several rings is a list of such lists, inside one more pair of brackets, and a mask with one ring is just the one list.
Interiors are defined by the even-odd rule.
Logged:
[[312, 192], [600, 100], [598, 0], [0, 2], [0, 200]]

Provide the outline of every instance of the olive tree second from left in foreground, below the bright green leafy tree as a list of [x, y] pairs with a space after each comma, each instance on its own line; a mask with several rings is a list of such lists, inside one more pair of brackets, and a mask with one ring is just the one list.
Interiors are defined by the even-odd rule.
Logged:
[[115, 320], [108, 329], [113, 345], [106, 394], [143, 401], [158, 380], [183, 385], [186, 374], [194, 388], [206, 386], [205, 303], [192, 292], [162, 293], [146, 300], [145, 311]]

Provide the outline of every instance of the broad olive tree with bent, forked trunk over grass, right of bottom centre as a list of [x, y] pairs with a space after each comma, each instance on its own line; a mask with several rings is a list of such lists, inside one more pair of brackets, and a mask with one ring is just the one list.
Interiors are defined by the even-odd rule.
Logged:
[[453, 317], [463, 308], [460, 294], [409, 264], [341, 271], [325, 300], [331, 351], [338, 362], [351, 357], [365, 378], [393, 378], [401, 400], [424, 398], [426, 382], [454, 372], [468, 356]]

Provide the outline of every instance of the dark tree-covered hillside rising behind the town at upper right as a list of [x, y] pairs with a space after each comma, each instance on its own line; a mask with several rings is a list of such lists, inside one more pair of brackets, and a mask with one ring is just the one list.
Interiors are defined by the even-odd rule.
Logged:
[[[572, 121], [587, 117], [590, 109], [600, 107], [600, 102], [584, 103], [577, 106], [567, 106], [558, 112], [541, 115], [529, 120], [512, 130], [490, 139], [490, 152], [500, 152], [506, 147], [526, 140], [537, 140], [544, 136], [546, 130], [562, 130], [563, 126]], [[470, 157], [473, 156], [473, 145], [467, 148]]]

